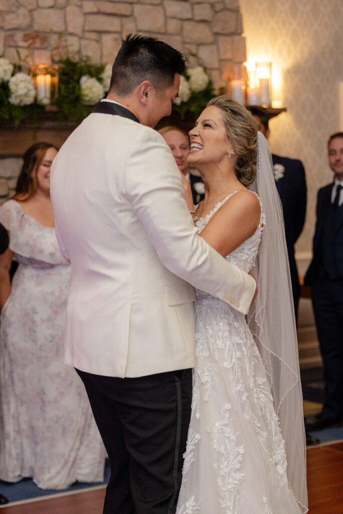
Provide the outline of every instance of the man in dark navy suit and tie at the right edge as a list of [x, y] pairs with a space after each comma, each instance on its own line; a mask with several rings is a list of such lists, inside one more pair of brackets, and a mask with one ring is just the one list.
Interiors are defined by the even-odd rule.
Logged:
[[343, 132], [328, 141], [334, 181], [319, 189], [313, 260], [305, 283], [312, 302], [324, 366], [322, 412], [308, 430], [341, 426], [343, 416]]

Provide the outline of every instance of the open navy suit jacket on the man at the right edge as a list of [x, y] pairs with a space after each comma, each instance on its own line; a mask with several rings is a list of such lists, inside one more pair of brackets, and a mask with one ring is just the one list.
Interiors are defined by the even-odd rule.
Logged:
[[[311, 285], [314, 280], [319, 277], [320, 265], [321, 265], [321, 245], [322, 235], [326, 229], [325, 219], [326, 212], [331, 204], [331, 193], [334, 182], [319, 189], [317, 197], [317, 223], [316, 230], [313, 237], [313, 259], [310, 264], [308, 271], [305, 276], [305, 284]], [[337, 266], [340, 277], [343, 279], [343, 205], [337, 210], [337, 216], [339, 217], [336, 227], [336, 237], [332, 252], [335, 253], [337, 259]]]

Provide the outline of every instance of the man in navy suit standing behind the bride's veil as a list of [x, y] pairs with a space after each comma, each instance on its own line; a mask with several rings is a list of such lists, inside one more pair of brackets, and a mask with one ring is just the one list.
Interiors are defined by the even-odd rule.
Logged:
[[[259, 131], [268, 139], [268, 115], [263, 107], [251, 106], [249, 111], [259, 124]], [[285, 225], [288, 261], [290, 263], [291, 281], [295, 317], [298, 316], [300, 284], [295, 262], [294, 245], [301, 234], [306, 213], [305, 170], [298, 159], [280, 157], [272, 154], [276, 187], [281, 199]]]

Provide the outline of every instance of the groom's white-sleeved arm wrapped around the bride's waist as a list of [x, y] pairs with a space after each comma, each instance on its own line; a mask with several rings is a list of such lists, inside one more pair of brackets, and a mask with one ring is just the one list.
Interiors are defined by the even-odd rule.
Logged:
[[125, 191], [161, 262], [197, 289], [246, 314], [255, 280], [197, 234], [172, 153], [164, 139], [146, 127], [139, 130], [127, 157]]

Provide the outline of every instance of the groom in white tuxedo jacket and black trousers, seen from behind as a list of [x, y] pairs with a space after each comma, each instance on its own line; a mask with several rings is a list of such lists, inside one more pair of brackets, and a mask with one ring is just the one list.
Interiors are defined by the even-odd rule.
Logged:
[[182, 179], [153, 130], [171, 112], [181, 54], [128, 36], [110, 93], [51, 170], [71, 263], [65, 362], [75, 366], [111, 462], [104, 514], [171, 514], [195, 365], [193, 286], [246, 314], [255, 281], [198, 236]]

